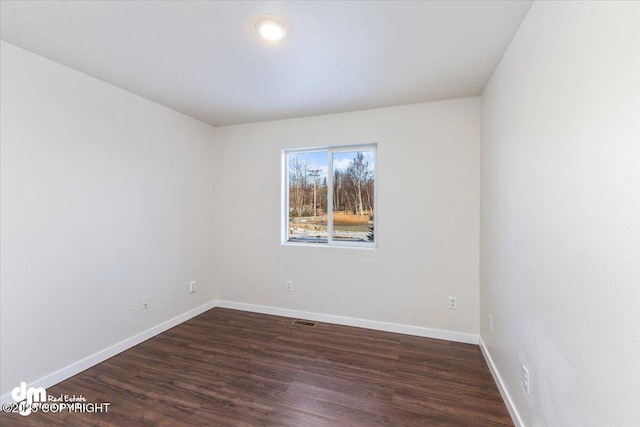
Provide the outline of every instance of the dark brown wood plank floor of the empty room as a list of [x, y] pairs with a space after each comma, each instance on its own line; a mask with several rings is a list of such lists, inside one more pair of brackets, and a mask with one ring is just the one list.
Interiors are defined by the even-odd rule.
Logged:
[[49, 395], [107, 413], [2, 426], [512, 426], [475, 345], [214, 308]]

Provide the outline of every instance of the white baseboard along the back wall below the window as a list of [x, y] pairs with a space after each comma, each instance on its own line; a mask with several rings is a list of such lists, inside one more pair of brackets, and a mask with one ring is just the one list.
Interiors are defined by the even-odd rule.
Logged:
[[478, 344], [478, 336], [461, 332], [430, 329], [422, 326], [402, 325], [399, 323], [380, 322], [377, 320], [358, 319], [355, 317], [336, 316], [333, 314], [314, 313], [311, 311], [292, 310], [288, 308], [270, 307], [266, 305], [245, 304], [233, 301], [217, 301], [216, 307], [232, 308], [235, 310], [252, 311], [255, 313], [272, 314], [275, 316], [294, 317], [315, 320], [316, 322], [335, 323], [337, 325], [356, 326], [358, 328], [374, 329], [378, 331], [395, 332], [398, 334], [415, 335], [425, 338], [437, 338], [467, 344]]

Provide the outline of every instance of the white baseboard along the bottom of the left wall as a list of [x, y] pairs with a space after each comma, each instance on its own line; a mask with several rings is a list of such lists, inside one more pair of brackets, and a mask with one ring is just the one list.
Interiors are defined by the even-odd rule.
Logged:
[[[114, 344], [110, 347], [105, 348], [104, 350], [100, 350], [97, 353], [92, 354], [91, 356], [85, 357], [77, 362], [72, 363], [69, 366], [65, 366], [62, 369], [59, 369], [51, 374], [45, 375], [44, 377], [32, 381], [27, 384], [27, 387], [51, 387], [61, 381], [64, 381], [68, 378], [71, 378], [74, 375], [79, 374], [80, 372], [89, 369], [92, 366], [97, 365], [100, 362], [104, 362], [110, 357], [115, 356], [118, 353], [122, 353], [125, 350], [130, 349], [133, 346], [140, 344], [152, 338], [162, 332], [173, 328], [176, 325], [179, 325], [182, 322], [185, 322], [192, 317], [195, 317], [201, 313], [204, 313], [207, 310], [212, 309], [216, 306], [216, 301], [210, 301], [206, 304], [203, 304], [199, 307], [196, 307], [192, 310], [189, 310], [185, 313], [182, 313], [172, 319], [169, 319], [165, 322], [160, 323], [146, 331], [140, 332], [130, 338], [127, 338], [123, 341], [120, 341], [117, 344]], [[19, 384], [16, 384], [18, 386]], [[6, 393], [0, 398], [0, 404], [11, 403], [13, 399], [11, 398], [11, 392]]]

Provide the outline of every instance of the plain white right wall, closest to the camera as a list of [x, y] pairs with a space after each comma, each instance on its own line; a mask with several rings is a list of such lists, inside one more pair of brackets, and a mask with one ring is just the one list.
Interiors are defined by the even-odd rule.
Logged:
[[482, 98], [480, 333], [527, 426], [640, 425], [639, 22], [535, 2]]

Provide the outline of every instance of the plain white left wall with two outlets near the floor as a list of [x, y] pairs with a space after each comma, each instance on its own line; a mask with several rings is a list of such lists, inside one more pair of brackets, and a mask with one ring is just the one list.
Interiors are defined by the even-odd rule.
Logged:
[[215, 171], [210, 126], [0, 47], [4, 395], [213, 298]]

